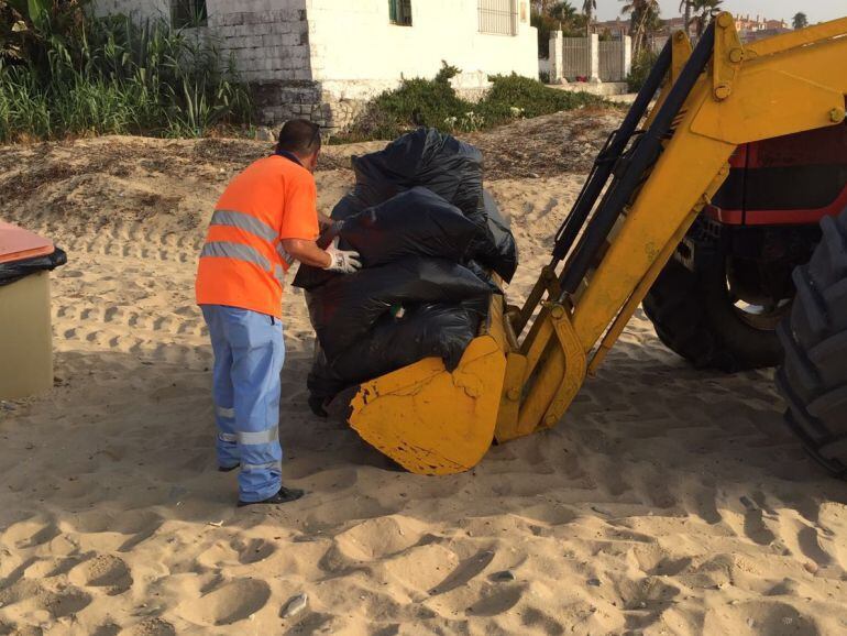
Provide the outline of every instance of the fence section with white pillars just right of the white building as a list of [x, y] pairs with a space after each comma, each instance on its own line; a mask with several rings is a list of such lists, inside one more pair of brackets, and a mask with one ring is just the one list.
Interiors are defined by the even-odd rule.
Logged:
[[632, 41], [629, 37], [601, 42], [591, 37], [562, 37], [560, 31], [550, 37], [550, 81], [625, 81], [632, 65]]

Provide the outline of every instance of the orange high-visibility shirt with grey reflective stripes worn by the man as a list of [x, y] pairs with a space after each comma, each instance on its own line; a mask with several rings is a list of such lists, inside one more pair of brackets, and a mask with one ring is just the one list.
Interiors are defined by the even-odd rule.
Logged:
[[311, 173], [290, 158], [248, 166], [215, 208], [197, 267], [197, 304], [282, 318], [292, 257], [280, 241], [318, 237], [317, 198]]

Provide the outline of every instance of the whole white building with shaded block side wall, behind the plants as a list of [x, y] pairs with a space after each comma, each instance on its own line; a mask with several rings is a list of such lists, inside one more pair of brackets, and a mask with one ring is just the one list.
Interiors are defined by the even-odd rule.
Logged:
[[99, 14], [197, 26], [232, 54], [263, 123], [306, 117], [342, 128], [364, 100], [406, 77], [480, 94], [487, 76], [538, 77], [529, 0], [97, 0]]

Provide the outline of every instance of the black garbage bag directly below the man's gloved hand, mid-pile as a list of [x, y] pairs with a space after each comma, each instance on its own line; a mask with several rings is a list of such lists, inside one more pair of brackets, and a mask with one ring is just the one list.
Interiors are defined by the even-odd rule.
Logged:
[[485, 305], [495, 290], [448, 260], [410, 256], [332, 278], [309, 293], [307, 304], [318, 342], [334, 363], [392, 307], [464, 300]]

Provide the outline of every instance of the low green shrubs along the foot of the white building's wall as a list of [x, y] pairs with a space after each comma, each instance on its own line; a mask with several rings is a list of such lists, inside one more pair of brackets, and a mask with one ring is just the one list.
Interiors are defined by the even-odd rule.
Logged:
[[458, 68], [444, 65], [435, 79], [404, 80], [396, 90], [374, 98], [350, 131], [333, 142], [394, 139], [419, 125], [474, 132], [516, 119], [606, 103], [593, 95], [557, 90], [518, 75], [492, 77], [488, 94], [473, 103], [459, 97], [450, 85], [458, 73]]

